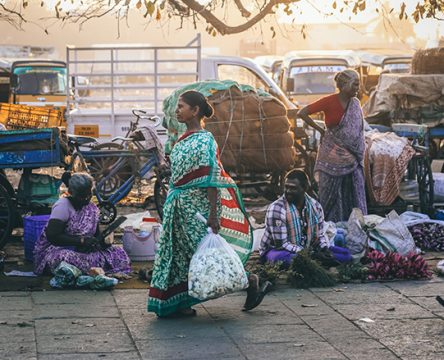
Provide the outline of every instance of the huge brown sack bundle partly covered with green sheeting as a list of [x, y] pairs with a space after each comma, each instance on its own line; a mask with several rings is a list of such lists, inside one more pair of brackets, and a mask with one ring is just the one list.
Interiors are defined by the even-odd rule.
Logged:
[[164, 100], [167, 152], [186, 130], [177, 122], [175, 108], [180, 94], [187, 90], [201, 92], [214, 107], [205, 128], [214, 135], [227, 171], [268, 173], [293, 166], [296, 152], [285, 106], [268, 93], [234, 81], [190, 84]]

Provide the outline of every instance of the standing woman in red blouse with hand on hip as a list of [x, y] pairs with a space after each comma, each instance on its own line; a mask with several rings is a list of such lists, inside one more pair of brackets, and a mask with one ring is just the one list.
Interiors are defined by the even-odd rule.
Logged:
[[[335, 76], [339, 93], [326, 96], [301, 109], [298, 116], [322, 136], [316, 159], [319, 201], [327, 221], [348, 220], [353, 208], [367, 213], [364, 178], [364, 117], [356, 95], [359, 74], [344, 70]], [[310, 117], [324, 112], [324, 130]]]

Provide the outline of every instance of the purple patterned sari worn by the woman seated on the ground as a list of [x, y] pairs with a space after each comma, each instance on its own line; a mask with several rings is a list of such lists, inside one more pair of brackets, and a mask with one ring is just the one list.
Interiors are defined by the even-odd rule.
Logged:
[[[94, 236], [99, 223], [99, 209], [93, 203], [74, 212], [68, 219], [65, 232], [70, 235]], [[34, 248], [34, 272], [42, 274], [45, 269], [53, 272], [62, 262], [76, 266], [87, 273], [91, 267], [101, 267], [106, 273], [129, 273], [130, 260], [126, 252], [116, 246], [105, 250], [83, 253], [52, 245], [46, 237], [46, 228]]]

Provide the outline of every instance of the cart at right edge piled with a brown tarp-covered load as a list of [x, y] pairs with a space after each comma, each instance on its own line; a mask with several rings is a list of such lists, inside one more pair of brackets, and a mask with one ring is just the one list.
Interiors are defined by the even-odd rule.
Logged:
[[372, 127], [412, 141], [415, 154], [401, 194], [429, 215], [444, 200], [443, 87], [444, 74], [383, 74], [364, 106]]

